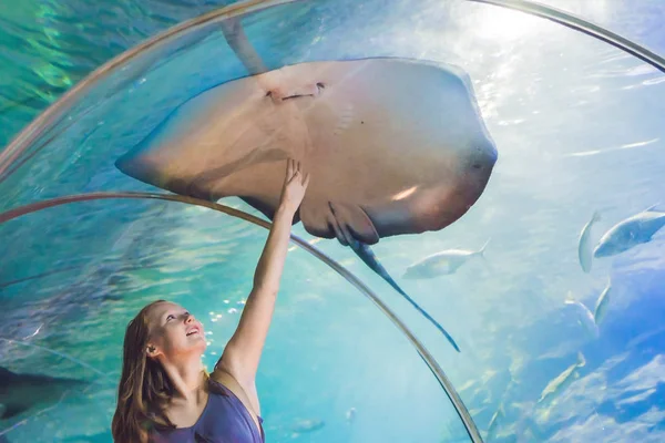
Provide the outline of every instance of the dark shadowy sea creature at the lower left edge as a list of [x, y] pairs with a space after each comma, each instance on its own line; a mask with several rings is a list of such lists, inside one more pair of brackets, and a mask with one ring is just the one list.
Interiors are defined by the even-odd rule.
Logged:
[[83, 380], [17, 373], [0, 367], [0, 421], [58, 403], [66, 393], [86, 385]]

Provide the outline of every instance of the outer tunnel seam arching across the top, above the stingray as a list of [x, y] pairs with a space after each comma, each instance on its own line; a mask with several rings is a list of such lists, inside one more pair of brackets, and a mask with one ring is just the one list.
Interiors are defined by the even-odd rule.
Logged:
[[[222, 9], [211, 11], [203, 16], [176, 24], [175, 27], [153, 38], [150, 38], [143, 43], [140, 43], [136, 47], [129, 49], [122, 54], [111, 59], [110, 61], [94, 70], [92, 73], [90, 73], [85, 79], [80, 81], [71, 90], [65, 92], [64, 95], [60, 97], [55, 103], [47, 107], [37, 119], [34, 119], [32, 123], [30, 123], [23, 131], [21, 131], [13, 138], [13, 141], [9, 145], [7, 145], [7, 147], [3, 151], [0, 152], [0, 184], [4, 179], [7, 179], [10, 173], [13, 173], [18, 169], [17, 167], [12, 168], [10, 173], [7, 172], [7, 169], [12, 165], [17, 157], [20, 156], [21, 153], [25, 151], [29, 145], [31, 145], [40, 135], [43, 134], [44, 127], [50, 125], [53, 119], [58, 117], [66, 111], [66, 109], [64, 107], [71, 104], [70, 102], [72, 102], [78, 94], [90, 89], [90, 86], [94, 85], [99, 80], [104, 79], [110, 72], [112, 72], [114, 69], [119, 68], [123, 63], [135, 59], [145, 50], [149, 50], [151, 48], [158, 48], [160, 45], [164, 44], [167, 40], [170, 40], [173, 37], [176, 37], [181, 32], [191, 31], [197, 27], [207, 24], [209, 22], [214, 22], [216, 20], [233, 18], [250, 12], [257, 12], [267, 8], [286, 3], [294, 3], [297, 1], [306, 0], [246, 0], [233, 3]], [[541, 3], [524, 0], [462, 1], [492, 4], [553, 21], [574, 31], [584, 33], [605, 43], [608, 43], [633, 56], [636, 56], [637, 59], [656, 68], [658, 71], [665, 73], [664, 58], [649, 51], [645, 47], [631, 41], [627, 38], [624, 38], [615, 32], [612, 32], [601, 25], [594, 24], [572, 13], [564, 12], [562, 10], [557, 10], [555, 8], [548, 7]], [[42, 145], [38, 151], [41, 151], [41, 148], [43, 147], [44, 146]], [[35, 153], [33, 153], [32, 155], [34, 155]]]

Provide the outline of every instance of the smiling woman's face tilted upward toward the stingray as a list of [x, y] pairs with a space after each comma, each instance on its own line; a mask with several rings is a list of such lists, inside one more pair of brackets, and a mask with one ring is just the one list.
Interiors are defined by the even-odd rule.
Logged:
[[173, 358], [205, 351], [203, 324], [178, 305], [168, 301], [155, 305], [147, 312], [147, 324], [151, 357]]

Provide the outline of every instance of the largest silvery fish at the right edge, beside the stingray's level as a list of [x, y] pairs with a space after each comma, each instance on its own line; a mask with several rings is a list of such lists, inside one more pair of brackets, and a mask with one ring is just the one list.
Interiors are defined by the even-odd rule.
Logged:
[[610, 228], [598, 240], [593, 256], [612, 257], [651, 241], [665, 226], [665, 212], [655, 210], [656, 206], [658, 205], [653, 205]]

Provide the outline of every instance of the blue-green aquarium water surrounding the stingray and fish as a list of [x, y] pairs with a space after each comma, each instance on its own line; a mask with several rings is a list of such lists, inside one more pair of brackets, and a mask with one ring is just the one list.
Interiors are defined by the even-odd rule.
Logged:
[[[656, 2], [574, 3], [549, 2], [664, 52], [662, 32], [649, 24], [663, 17]], [[0, 10], [0, 79], [8, 84], [0, 144], [111, 56], [219, 6], [116, 1], [100, 12], [79, 2], [22, 4]], [[603, 218], [594, 241], [615, 223], [665, 205], [662, 73], [560, 25], [466, 1], [313, 1], [253, 14], [245, 27], [270, 68], [395, 55], [469, 72], [500, 154], [485, 193], [441, 231], [374, 247], [451, 331], [461, 353], [348, 248], [299, 225], [294, 233], [398, 312], [450, 377], [485, 441], [665, 440], [665, 233], [595, 260], [589, 275], [577, 262], [577, 236], [595, 209]], [[215, 27], [139, 59], [78, 99], [35, 141], [21, 157], [25, 164], [0, 184], [0, 210], [82, 192], [154, 190], [119, 173], [114, 159], [187, 97], [242, 75]], [[237, 199], [223, 203], [256, 214]], [[212, 367], [237, 322], [265, 236], [226, 215], [143, 200], [80, 203], [0, 225], [1, 365], [98, 381], [58, 404], [0, 420], [2, 436], [111, 441], [124, 327], [155, 298], [184, 303], [203, 320]], [[434, 280], [400, 279], [429, 254], [479, 248], [488, 238], [487, 264]], [[594, 338], [565, 299], [570, 293], [593, 310], [610, 276], [610, 307]], [[585, 364], [574, 380], [539, 403], [579, 352]], [[469, 441], [406, 338], [347, 281], [295, 247], [258, 390], [270, 442]], [[351, 422], [350, 408], [357, 411]], [[326, 425], [295, 435], [298, 420]]]

